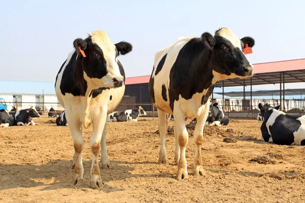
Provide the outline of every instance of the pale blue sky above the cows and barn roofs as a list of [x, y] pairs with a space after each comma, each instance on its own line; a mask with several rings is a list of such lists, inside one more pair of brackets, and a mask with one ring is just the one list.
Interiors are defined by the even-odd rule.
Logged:
[[179, 37], [229, 27], [256, 45], [252, 63], [305, 58], [304, 1], [2, 1], [0, 80], [54, 81], [76, 38], [105, 30], [134, 49], [126, 76], [150, 75], [155, 52]]

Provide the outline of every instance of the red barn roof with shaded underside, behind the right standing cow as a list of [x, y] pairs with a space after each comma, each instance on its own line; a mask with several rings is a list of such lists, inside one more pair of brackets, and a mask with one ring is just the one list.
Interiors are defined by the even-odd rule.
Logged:
[[[252, 77], [252, 85], [277, 84], [280, 83], [280, 75], [285, 73], [285, 83], [305, 82], [305, 58], [256, 63], [254, 65], [254, 76]], [[140, 76], [126, 78], [126, 84], [148, 83], [150, 76]], [[283, 76], [282, 76], [283, 80]], [[282, 81], [283, 82], [283, 81]], [[217, 87], [243, 86], [242, 79], [229, 79], [218, 81]], [[245, 85], [251, 84], [251, 79], [245, 80]]]

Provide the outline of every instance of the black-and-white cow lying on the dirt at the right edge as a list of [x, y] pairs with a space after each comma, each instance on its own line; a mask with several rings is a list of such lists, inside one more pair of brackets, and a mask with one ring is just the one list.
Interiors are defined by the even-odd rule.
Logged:
[[263, 120], [261, 140], [277, 145], [305, 145], [305, 116], [289, 115], [268, 104], [260, 103], [258, 108]]

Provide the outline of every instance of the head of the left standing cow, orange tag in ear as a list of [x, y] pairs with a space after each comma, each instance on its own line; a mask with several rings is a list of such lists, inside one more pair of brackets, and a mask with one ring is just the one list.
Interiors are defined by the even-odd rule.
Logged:
[[84, 79], [93, 89], [123, 85], [124, 78], [119, 72], [116, 57], [130, 52], [131, 44], [113, 44], [106, 32], [100, 30], [92, 32], [85, 40], [76, 39], [73, 44], [78, 60], [81, 60]]

